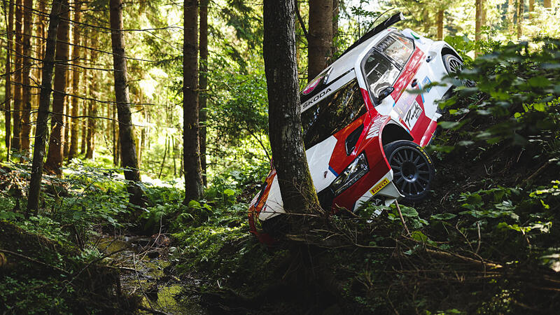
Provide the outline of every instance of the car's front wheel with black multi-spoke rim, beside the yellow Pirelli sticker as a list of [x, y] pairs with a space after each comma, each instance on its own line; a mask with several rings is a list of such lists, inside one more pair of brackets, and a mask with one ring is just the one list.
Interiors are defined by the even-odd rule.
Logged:
[[435, 171], [423, 148], [412, 141], [398, 140], [384, 146], [385, 156], [393, 169], [393, 183], [405, 196], [405, 202], [424, 200], [430, 193]]

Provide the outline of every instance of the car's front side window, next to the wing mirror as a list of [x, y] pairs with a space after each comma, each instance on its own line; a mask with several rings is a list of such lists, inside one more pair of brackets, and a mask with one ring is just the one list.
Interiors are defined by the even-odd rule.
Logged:
[[363, 60], [362, 69], [367, 87], [370, 88], [372, 96], [376, 99], [381, 90], [393, 85], [400, 73], [400, 69], [375, 48]]

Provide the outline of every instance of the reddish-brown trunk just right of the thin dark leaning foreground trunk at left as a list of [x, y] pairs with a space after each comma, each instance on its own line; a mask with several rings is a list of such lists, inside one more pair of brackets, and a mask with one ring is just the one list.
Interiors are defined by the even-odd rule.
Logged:
[[[64, 99], [66, 99], [66, 76], [68, 75], [68, 33], [69, 33], [69, 20], [70, 8], [68, 0], [64, 0], [62, 4], [61, 20], [57, 36], [57, 51], [55, 66], [55, 91], [52, 94], [52, 118], [50, 120], [50, 137], [48, 142], [47, 160], [45, 161], [45, 169], [48, 169], [55, 174], [62, 174], [60, 167], [62, 167], [62, 127], [64, 119]], [[50, 25], [49, 25], [50, 27]], [[46, 52], [45, 52], [46, 54]]]

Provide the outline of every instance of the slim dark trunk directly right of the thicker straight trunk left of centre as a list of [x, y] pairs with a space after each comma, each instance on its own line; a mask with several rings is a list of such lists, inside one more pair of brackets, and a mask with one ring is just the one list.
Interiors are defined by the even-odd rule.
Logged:
[[200, 1], [200, 78], [198, 95], [200, 106], [200, 167], [202, 169], [202, 183], [207, 186], [206, 176], [206, 120], [207, 120], [207, 88], [208, 88], [208, 3]]

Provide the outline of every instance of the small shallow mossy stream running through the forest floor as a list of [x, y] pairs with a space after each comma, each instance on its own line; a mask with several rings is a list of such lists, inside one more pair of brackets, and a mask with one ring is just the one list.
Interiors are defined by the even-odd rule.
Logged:
[[[197, 314], [208, 312], [183, 292], [187, 283], [200, 283], [197, 279], [179, 279], [170, 271], [172, 253], [165, 235], [153, 237], [102, 235], [94, 244], [99, 251], [109, 255], [109, 265], [120, 267], [123, 291], [142, 297], [142, 306], [165, 314]], [[166, 269], [167, 268], [167, 269]], [[140, 311], [140, 314], [151, 314]]]

